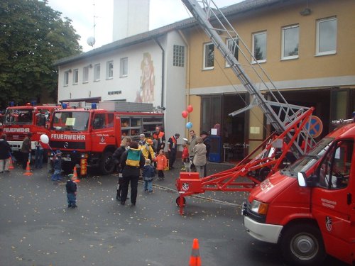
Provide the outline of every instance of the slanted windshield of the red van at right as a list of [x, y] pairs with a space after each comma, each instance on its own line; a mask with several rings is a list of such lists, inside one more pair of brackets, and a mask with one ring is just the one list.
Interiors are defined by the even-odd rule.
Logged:
[[281, 174], [288, 175], [289, 177], [296, 177], [297, 172], [307, 172], [307, 170], [315, 165], [315, 163], [320, 160], [324, 153], [327, 152], [333, 141], [334, 138], [323, 138], [306, 155], [303, 155], [292, 165], [281, 170]]

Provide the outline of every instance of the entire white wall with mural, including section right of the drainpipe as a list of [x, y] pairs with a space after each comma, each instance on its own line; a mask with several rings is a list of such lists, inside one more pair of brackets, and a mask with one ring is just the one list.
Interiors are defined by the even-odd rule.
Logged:
[[[142, 62], [143, 55], [148, 53], [151, 55], [151, 65], [153, 66], [153, 106], [164, 106], [165, 109], [165, 135], [166, 140], [175, 134], [180, 133], [181, 138], [178, 143], [182, 143], [182, 138], [185, 137], [185, 118], [182, 118], [181, 112], [186, 109], [186, 65], [187, 48], [185, 47], [185, 66], [173, 66], [173, 45], [183, 45], [180, 35], [171, 31], [157, 40], [164, 50], [164, 75], [162, 72], [163, 66], [163, 51], [158, 43], [154, 40], [146, 41], [145, 43], [130, 45], [127, 48], [106, 52], [99, 56], [89, 57], [86, 60], [80, 60], [67, 65], [61, 65], [59, 68], [58, 77], [58, 101], [64, 99], [80, 99], [87, 97], [101, 96], [102, 101], [111, 100], [126, 100], [136, 101], [137, 94], [142, 92]], [[128, 57], [128, 76], [119, 77], [120, 59]], [[107, 62], [114, 61], [114, 78], [106, 79]], [[101, 78], [98, 82], [94, 82], [94, 65], [101, 65]], [[87, 65], [92, 65], [89, 68], [89, 82], [83, 83], [83, 68]], [[75, 68], [79, 69], [79, 82], [72, 84], [73, 72], [69, 74], [68, 86], [63, 86], [64, 72]], [[162, 99], [162, 79], [164, 76], [164, 92]], [[109, 95], [109, 92], [121, 91], [121, 94]], [[163, 101], [163, 102], [162, 102]], [[147, 102], [147, 101], [144, 101]]]

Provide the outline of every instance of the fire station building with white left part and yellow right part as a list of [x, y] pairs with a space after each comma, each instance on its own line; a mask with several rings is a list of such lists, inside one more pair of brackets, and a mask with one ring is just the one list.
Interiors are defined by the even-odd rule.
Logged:
[[[351, 0], [246, 0], [222, 9], [289, 104], [315, 106], [323, 123], [355, 111], [355, 2]], [[229, 45], [229, 38], [221, 33]], [[234, 56], [249, 67], [238, 48]], [[96, 98], [153, 103], [165, 108], [166, 134], [220, 125], [219, 147], [243, 156], [268, 135], [261, 109], [229, 116], [251, 96], [195, 21], [187, 18], [116, 40], [55, 63], [58, 101]], [[268, 92], [265, 92], [266, 99]], [[192, 105], [187, 118], [181, 112]]]

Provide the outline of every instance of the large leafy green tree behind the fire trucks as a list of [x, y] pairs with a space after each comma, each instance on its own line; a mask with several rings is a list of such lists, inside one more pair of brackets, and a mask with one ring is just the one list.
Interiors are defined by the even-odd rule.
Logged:
[[48, 1], [0, 1], [0, 106], [58, 94], [53, 62], [82, 51], [69, 18]]

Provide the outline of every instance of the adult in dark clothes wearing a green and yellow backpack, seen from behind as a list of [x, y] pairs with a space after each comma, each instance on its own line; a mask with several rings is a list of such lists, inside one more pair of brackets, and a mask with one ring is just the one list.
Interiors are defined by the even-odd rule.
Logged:
[[136, 205], [138, 178], [141, 174], [141, 168], [144, 167], [146, 159], [142, 151], [138, 148], [138, 143], [132, 141], [129, 150], [126, 150], [121, 155], [122, 167], [122, 192], [121, 192], [121, 205], [126, 203], [127, 194], [129, 192], [129, 182], [131, 182], [131, 204]]

